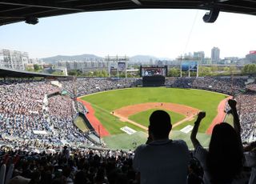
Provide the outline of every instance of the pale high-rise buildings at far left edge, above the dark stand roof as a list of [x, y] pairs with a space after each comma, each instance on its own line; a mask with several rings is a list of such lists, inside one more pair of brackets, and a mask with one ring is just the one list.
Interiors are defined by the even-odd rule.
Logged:
[[6, 67], [16, 70], [25, 70], [29, 63], [29, 54], [17, 50], [0, 50], [0, 67]]

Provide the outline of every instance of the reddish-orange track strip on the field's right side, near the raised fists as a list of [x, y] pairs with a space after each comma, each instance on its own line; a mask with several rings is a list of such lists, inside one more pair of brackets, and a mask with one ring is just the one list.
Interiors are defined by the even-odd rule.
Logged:
[[226, 101], [230, 98], [232, 98], [232, 96], [225, 98], [224, 100], [222, 100], [222, 102], [220, 102], [218, 104], [218, 114], [214, 118], [213, 122], [211, 122], [209, 128], [206, 130], [206, 134], [211, 134], [214, 129], [214, 126], [217, 125], [218, 123], [221, 123], [224, 121], [225, 116], [226, 116], [226, 113], [224, 112], [225, 106], [226, 106]]

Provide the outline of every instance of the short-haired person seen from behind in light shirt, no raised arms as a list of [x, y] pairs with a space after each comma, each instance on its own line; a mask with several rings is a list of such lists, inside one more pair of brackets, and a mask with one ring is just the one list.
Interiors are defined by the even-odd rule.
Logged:
[[149, 138], [134, 151], [133, 167], [141, 184], [186, 183], [190, 158], [186, 142], [170, 140], [170, 115], [156, 110], [150, 115]]

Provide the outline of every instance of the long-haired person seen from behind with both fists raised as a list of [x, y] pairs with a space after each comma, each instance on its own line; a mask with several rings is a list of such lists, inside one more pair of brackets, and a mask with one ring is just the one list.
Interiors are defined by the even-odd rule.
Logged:
[[235, 115], [234, 128], [226, 122], [214, 126], [209, 150], [202, 148], [196, 138], [198, 127], [206, 113], [200, 112], [197, 121], [194, 122], [190, 138], [195, 149], [194, 156], [201, 162], [204, 170], [203, 181], [205, 183], [232, 183], [242, 170], [243, 153], [236, 102], [230, 99], [229, 104]]

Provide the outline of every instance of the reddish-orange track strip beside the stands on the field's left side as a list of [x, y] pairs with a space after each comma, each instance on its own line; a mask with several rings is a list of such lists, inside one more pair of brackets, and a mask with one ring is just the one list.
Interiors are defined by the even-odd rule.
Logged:
[[82, 102], [82, 104], [84, 106], [86, 106], [86, 109], [89, 111], [88, 114], [85, 114], [86, 117], [89, 119], [89, 122], [91, 123], [91, 125], [94, 127], [94, 130], [101, 136], [108, 136], [110, 135], [110, 133], [104, 128], [104, 126], [102, 126], [102, 123], [98, 120], [98, 118], [96, 118], [96, 116], [94, 115], [95, 111], [94, 108], [90, 105], [89, 102], [83, 101], [80, 98], [77, 98], [78, 102]]

